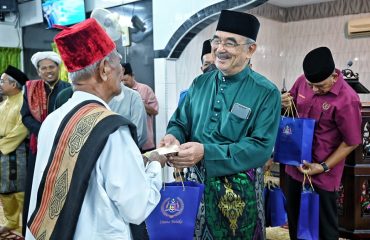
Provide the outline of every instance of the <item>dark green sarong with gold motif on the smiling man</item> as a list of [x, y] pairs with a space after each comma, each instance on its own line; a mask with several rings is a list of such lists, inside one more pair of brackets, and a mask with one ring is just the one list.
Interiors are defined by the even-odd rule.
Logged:
[[206, 178], [206, 225], [212, 239], [259, 239], [255, 170]]

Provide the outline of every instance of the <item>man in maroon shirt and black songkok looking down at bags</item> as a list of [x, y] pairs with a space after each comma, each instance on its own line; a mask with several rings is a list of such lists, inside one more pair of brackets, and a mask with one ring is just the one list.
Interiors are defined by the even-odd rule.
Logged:
[[319, 238], [338, 239], [337, 191], [345, 158], [362, 143], [361, 102], [335, 68], [329, 48], [310, 51], [303, 60], [303, 72], [281, 98], [284, 107], [293, 100], [300, 117], [316, 120], [312, 163], [285, 168], [289, 234], [297, 239], [303, 173], [307, 172], [320, 196]]

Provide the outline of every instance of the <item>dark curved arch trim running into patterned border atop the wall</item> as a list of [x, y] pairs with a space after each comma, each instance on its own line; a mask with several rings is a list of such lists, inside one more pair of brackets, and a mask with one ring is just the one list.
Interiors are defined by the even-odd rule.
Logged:
[[217, 21], [223, 9], [245, 11], [280, 22], [294, 22], [370, 12], [370, 0], [336, 0], [290, 8], [282, 8], [266, 2], [267, 0], [225, 0], [202, 9], [178, 28], [168, 41], [165, 49], [155, 51], [155, 58], [179, 58], [195, 35]]

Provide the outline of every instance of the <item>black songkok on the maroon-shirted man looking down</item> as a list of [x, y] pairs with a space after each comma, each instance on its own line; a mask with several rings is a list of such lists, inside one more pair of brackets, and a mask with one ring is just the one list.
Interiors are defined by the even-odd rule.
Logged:
[[335, 69], [333, 56], [327, 47], [319, 47], [309, 52], [303, 60], [303, 72], [311, 83], [322, 82]]

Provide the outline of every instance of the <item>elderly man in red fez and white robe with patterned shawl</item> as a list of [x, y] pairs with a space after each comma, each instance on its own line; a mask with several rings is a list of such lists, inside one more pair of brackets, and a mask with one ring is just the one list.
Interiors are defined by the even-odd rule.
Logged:
[[40, 129], [26, 239], [130, 239], [129, 223], [159, 202], [164, 161], [144, 162], [134, 125], [107, 105], [122, 67], [100, 25], [88, 19], [55, 42], [74, 94]]

